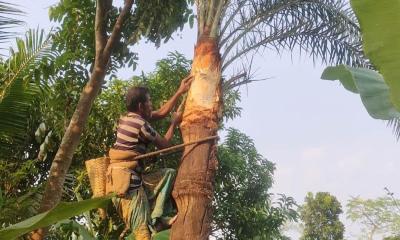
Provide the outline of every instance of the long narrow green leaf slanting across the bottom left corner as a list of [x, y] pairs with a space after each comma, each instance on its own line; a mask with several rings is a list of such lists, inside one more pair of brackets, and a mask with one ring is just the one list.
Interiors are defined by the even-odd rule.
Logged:
[[0, 239], [14, 239], [37, 228], [46, 227], [63, 219], [73, 217], [109, 203], [113, 195], [93, 198], [79, 202], [61, 202], [53, 209], [28, 218], [15, 225], [0, 230]]

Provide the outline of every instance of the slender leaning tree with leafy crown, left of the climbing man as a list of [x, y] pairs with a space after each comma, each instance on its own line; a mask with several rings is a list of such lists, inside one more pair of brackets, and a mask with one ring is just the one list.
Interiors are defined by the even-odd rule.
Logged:
[[[61, 200], [62, 187], [73, 154], [78, 147], [93, 102], [105, 83], [106, 75], [119, 63], [124, 65], [125, 62], [132, 60], [123, 57], [129, 52], [127, 46], [137, 43], [142, 37], [146, 37], [156, 45], [161, 41], [167, 41], [178, 27], [183, 27], [190, 14], [185, 0], [162, 2], [126, 0], [121, 8], [113, 6], [112, 0], [60, 1], [58, 6], [60, 7], [52, 8], [53, 17], [57, 16], [54, 19], [66, 23], [63, 27], [68, 26], [62, 30], [61, 38], [73, 39], [73, 49], [92, 50], [86, 56], [85, 66], [80, 66], [83, 69], [90, 69], [91, 74], [84, 79], [85, 87], [82, 89], [71, 120], [65, 124], [65, 133], [48, 172], [39, 212], [52, 209]], [[82, 13], [81, 17], [69, 15], [66, 10], [71, 6], [74, 6], [71, 12]], [[71, 26], [78, 28], [86, 26], [91, 30], [72, 31]], [[82, 38], [75, 42], [77, 36]], [[62, 51], [70, 44], [71, 42], [66, 40], [65, 45], [61, 44], [57, 49]], [[77, 55], [79, 58], [82, 57], [80, 54], [81, 52]], [[76, 61], [79, 60], [69, 60], [69, 62]], [[44, 229], [38, 229], [32, 232], [31, 239], [43, 239], [45, 234]]]

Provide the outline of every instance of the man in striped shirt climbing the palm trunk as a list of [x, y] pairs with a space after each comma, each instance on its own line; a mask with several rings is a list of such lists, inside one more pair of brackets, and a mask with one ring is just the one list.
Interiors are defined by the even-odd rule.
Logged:
[[143, 160], [135, 161], [134, 158], [146, 153], [149, 143], [159, 149], [170, 145], [174, 129], [182, 120], [182, 112], [174, 114], [164, 137], [148, 121], [166, 117], [179, 97], [189, 89], [191, 80], [191, 76], [183, 79], [178, 91], [157, 111], [152, 109], [147, 88], [132, 87], [126, 94], [128, 113], [119, 119], [117, 140], [109, 151], [107, 172], [107, 191], [118, 193], [119, 197], [113, 202], [126, 225], [120, 238], [130, 229], [135, 239], [150, 240], [149, 230], [157, 231], [162, 225], [170, 225], [170, 222], [163, 222], [163, 217], [168, 214], [165, 208], [171, 206], [168, 200], [175, 170], [162, 169], [144, 174]]

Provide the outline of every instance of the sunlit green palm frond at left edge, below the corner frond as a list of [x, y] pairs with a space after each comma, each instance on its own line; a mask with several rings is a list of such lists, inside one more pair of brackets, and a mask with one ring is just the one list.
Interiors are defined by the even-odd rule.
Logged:
[[47, 86], [40, 63], [55, 57], [50, 35], [37, 29], [28, 31], [25, 40], [17, 39], [17, 49], [0, 64], [1, 144], [24, 139], [29, 108]]

